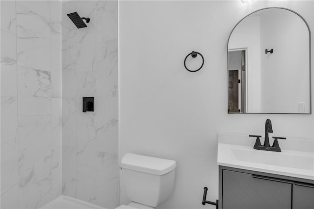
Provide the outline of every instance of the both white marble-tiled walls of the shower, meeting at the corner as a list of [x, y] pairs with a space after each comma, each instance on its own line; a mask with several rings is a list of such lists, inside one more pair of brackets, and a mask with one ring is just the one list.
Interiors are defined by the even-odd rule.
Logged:
[[[71, 22], [75, 11], [88, 27]], [[1, 208], [61, 194], [115, 208], [118, 2], [1, 0], [0, 50]]]

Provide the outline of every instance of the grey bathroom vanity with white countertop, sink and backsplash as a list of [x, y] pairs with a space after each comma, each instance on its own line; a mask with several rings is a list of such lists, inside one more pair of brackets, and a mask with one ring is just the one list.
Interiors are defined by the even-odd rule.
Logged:
[[219, 209], [314, 209], [313, 141], [290, 138], [281, 153], [253, 145], [218, 134]]

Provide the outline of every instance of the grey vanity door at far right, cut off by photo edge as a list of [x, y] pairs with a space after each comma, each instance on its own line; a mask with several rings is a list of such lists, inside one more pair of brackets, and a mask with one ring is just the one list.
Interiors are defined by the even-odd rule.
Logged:
[[293, 185], [293, 209], [314, 209], [314, 184]]

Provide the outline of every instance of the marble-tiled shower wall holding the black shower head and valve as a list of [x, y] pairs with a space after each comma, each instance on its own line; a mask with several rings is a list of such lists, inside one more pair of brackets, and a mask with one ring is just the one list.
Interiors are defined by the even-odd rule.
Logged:
[[[75, 11], [87, 27], [71, 22]], [[94, 112], [82, 97], [95, 97]], [[116, 0], [62, 2], [62, 194], [119, 205]]]

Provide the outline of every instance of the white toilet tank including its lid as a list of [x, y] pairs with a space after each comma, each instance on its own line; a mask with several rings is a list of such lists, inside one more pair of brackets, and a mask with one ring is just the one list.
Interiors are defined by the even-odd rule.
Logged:
[[154, 208], [165, 202], [174, 189], [175, 167], [174, 160], [126, 154], [121, 168], [128, 198]]

